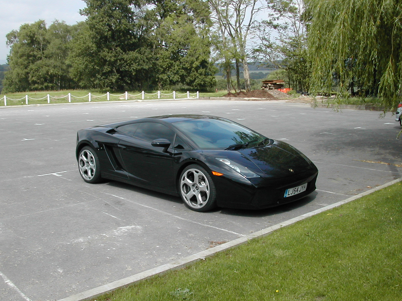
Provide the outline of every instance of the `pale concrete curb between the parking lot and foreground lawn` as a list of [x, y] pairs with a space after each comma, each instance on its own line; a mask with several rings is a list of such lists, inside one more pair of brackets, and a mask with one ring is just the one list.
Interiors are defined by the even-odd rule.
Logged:
[[199, 252], [197, 254], [191, 255], [191, 256], [187, 256], [185, 258], [182, 259], [178, 259], [178, 260], [174, 260], [172, 262], [169, 262], [167, 264], [158, 266], [156, 268], [151, 268], [150, 270], [146, 270], [142, 273], [138, 273], [136, 275], [132, 275], [129, 276], [127, 278], [123, 278], [117, 281], [113, 281], [111, 283], [102, 285], [100, 287], [96, 287], [94, 289], [90, 289], [88, 291], [84, 291], [82, 293], [78, 293], [76, 295], [72, 295], [70, 297], [64, 298], [64, 299], [59, 299], [57, 301], [84, 301], [87, 299], [91, 299], [94, 298], [98, 295], [101, 295], [103, 293], [106, 293], [108, 291], [113, 291], [114, 289], [120, 288], [120, 287], [125, 287], [127, 285], [130, 285], [132, 283], [147, 279], [149, 277], [155, 276], [155, 275], [161, 275], [163, 273], [166, 273], [169, 270], [176, 270], [179, 268], [182, 268], [184, 266], [187, 266], [193, 262], [197, 262], [199, 260], [205, 260], [206, 257], [212, 256], [213, 254], [216, 254], [217, 252], [221, 252], [224, 250], [228, 250], [230, 248], [233, 248], [235, 246], [238, 246], [240, 244], [244, 244], [245, 242], [248, 242], [249, 240], [253, 239], [253, 238], [257, 238], [257, 237], [261, 237], [261, 236], [265, 236], [277, 229], [283, 228], [285, 226], [289, 226], [291, 224], [294, 224], [295, 222], [298, 222], [300, 220], [304, 220], [305, 218], [309, 218], [310, 216], [314, 216], [316, 214], [319, 214], [321, 212], [327, 211], [329, 209], [338, 207], [340, 205], [343, 205], [345, 203], [349, 203], [350, 201], [354, 201], [355, 199], [359, 199], [360, 197], [363, 197], [365, 195], [368, 195], [370, 193], [373, 193], [375, 191], [378, 191], [380, 189], [386, 188], [390, 185], [393, 185], [395, 183], [401, 182], [402, 178], [400, 179], [396, 179], [394, 181], [388, 182], [384, 185], [375, 187], [373, 189], [370, 189], [368, 191], [365, 191], [363, 193], [360, 193], [358, 195], [355, 195], [353, 197], [349, 197], [343, 201], [339, 201], [337, 203], [322, 207], [320, 209], [314, 210], [312, 212], [306, 213], [306, 214], [302, 214], [301, 216], [297, 216], [295, 218], [292, 218], [290, 220], [287, 220], [285, 222], [282, 222], [280, 224], [276, 224], [274, 226], [265, 228], [263, 230], [260, 230], [258, 232], [254, 232], [253, 234], [247, 235], [247, 236], [243, 236], [240, 238], [237, 238], [235, 240], [232, 240], [230, 242], [226, 242], [225, 244], [221, 244], [219, 246], [210, 248], [208, 250]]

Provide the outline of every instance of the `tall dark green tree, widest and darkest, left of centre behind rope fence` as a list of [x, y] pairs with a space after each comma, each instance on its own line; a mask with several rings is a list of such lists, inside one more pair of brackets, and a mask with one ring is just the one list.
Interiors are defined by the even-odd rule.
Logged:
[[[136, 28], [133, 0], [84, 0], [80, 14], [87, 19], [74, 35], [69, 61], [71, 74], [81, 87], [115, 90], [135, 85], [135, 75], [150, 67], [149, 55], [141, 51], [146, 39]], [[142, 71], [142, 72], [141, 72]]]

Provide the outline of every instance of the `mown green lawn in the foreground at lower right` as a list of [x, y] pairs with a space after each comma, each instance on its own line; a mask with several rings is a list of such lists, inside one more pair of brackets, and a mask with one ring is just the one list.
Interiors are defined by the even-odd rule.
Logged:
[[96, 301], [401, 301], [402, 184]]

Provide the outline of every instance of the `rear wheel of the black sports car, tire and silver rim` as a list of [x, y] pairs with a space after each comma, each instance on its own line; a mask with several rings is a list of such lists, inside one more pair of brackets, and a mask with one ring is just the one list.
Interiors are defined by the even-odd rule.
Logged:
[[98, 155], [90, 146], [84, 146], [80, 150], [78, 156], [78, 169], [82, 179], [87, 183], [99, 183], [102, 178], [100, 177], [100, 163]]

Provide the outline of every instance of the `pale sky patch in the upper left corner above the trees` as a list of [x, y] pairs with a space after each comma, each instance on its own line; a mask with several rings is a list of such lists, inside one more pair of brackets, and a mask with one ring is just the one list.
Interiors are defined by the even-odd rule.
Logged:
[[6, 63], [10, 47], [6, 46], [6, 35], [22, 24], [45, 20], [65, 21], [72, 25], [84, 21], [79, 10], [84, 8], [82, 0], [0, 0], [0, 64]]

